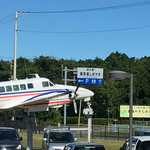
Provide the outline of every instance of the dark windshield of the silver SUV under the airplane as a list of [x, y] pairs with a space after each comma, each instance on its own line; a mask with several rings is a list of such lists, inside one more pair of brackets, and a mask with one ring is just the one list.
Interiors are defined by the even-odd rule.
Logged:
[[49, 141], [51, 143], [69, 143], [73, 142], [74, 140], [71, 133], [51, 132]]

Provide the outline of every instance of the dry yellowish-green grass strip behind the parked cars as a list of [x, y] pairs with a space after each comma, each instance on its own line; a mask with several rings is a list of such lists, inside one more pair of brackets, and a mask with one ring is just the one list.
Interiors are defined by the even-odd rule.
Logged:
[[[22, 144], [26, 148], [27, 147], [27, 133], [21, 132], [19, 133], [20, 136], [23, 137]], [[41, 149], [42, 147], [42, 134], [33, 134], [33, 148], [34, 149]], [[79, 142], [87, 141], [85, 138], [79, 138]], [[91, 142], [101, 143], [105, 146], [107, 150], [119, 150], [120, 147], [123, 145], [124, 141], [118, 140], [107, 140], [107, 139], [91, 139]]]

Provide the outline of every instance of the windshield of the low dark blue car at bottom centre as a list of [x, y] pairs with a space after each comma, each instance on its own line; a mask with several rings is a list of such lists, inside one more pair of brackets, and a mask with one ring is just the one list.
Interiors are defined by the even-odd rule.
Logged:
[[74, 150], [105, 150], [102, 146], [77, 146]]

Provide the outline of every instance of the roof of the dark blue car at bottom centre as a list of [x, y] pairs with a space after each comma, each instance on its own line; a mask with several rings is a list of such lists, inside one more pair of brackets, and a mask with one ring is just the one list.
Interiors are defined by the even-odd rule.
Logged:
[[91, 145], [91, 146], [103, 146], [100, 143], [95, 143], [95, 142], [72, 142], [67, 144], [68, 146], [82, 146], [82, 145]]

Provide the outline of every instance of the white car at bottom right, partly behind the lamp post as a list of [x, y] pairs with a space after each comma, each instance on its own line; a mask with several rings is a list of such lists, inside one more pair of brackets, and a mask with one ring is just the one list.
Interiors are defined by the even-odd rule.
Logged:
[[[133, 136], [132, 137], [132, 150], [146, 150], [146, 149], [139, 148], [139, 147], [142, 147], [141, 144], [143, 142], [150, 143], [150, 136]], [[140, 144], [138, 144], [138, 146], [137, 146], [137, 143], [140, 143]], [[129, 140], [128, 139], [125, 141], [125, 143], [120, 148], [120, 150], [129, 150]]]

